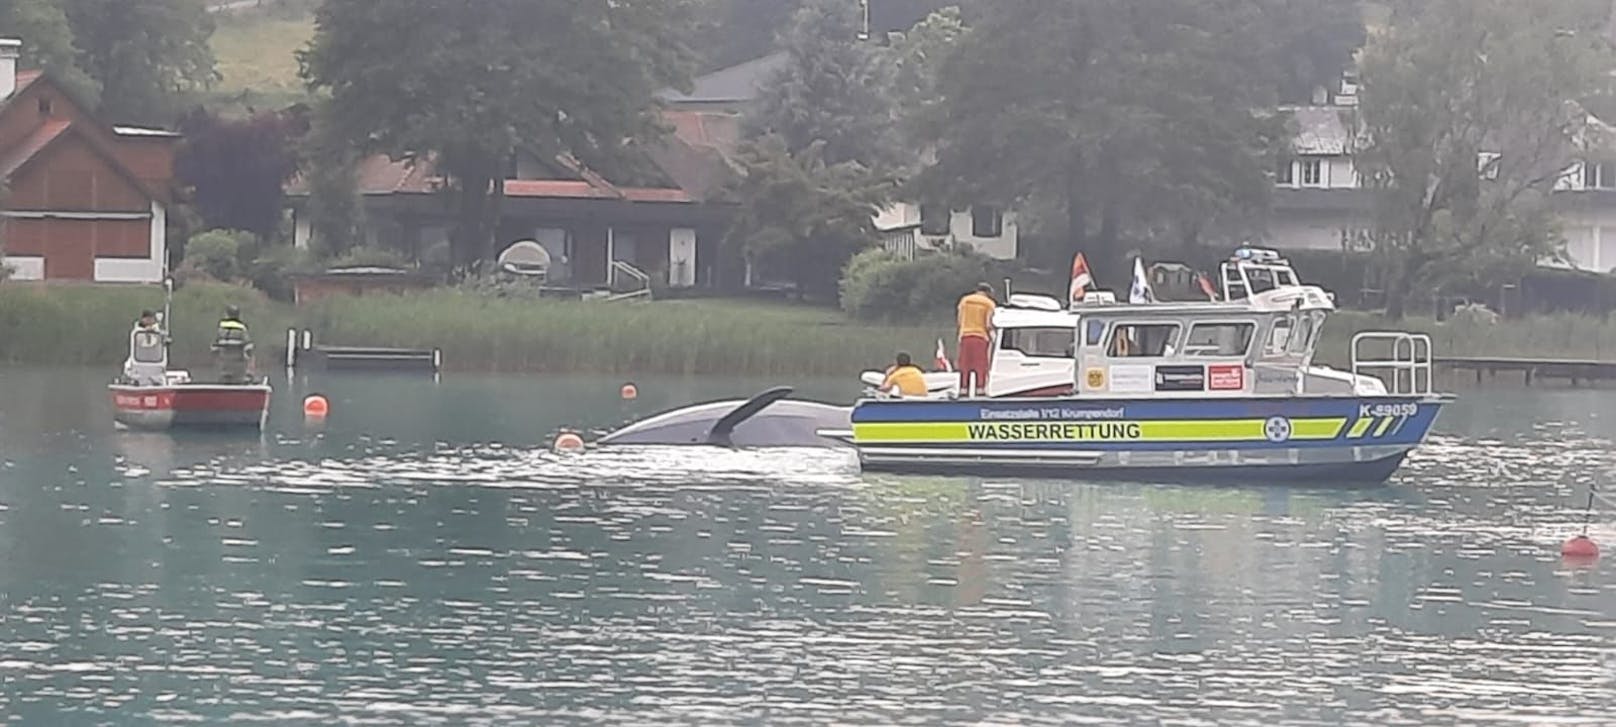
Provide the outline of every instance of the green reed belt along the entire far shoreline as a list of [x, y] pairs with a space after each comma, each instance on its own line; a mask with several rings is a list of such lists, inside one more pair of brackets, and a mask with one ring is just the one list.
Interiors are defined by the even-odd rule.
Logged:
[[[141, 309], [162, 302], [155, 286], [0, 284], [0, 362], [116, 365]], [[829, 309], [756, 300], [564, 302], [441, 289], [292, 310], [247, 288], [191, 283], [175, 294], [178, 365], [205, 365], [213, 326], [229, 304], [242, 307], [260, 364], [278, 354], [292, 325], [333, 346], [443, 349], [444, 365], [465, 372], [845, 376], [884, 365], [897, 351], [929, 365], [937, 338], [953, 352], [947, 321], [866, 325]], [[1613, 318], [1388, 323], [1359, 312], [1330, 318], [1319, 357], [1345, 365], [1354, 333], [1387, 328], [1430, 333], [1438, 355], [1616, 360]]]

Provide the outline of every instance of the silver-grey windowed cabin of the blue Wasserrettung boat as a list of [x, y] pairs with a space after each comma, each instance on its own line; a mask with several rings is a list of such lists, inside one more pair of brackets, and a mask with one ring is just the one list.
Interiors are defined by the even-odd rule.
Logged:
[[[1270, 289], [1241, 302], [1089, 309], [1076, 334], [1076, 391], [1241, 397], [1327, 389], [1330, 376], [1317, 380], [1312, 357], [1330, 310], [1335, 304], [1312, 286]], [[1351, 391], [1348, 380], [1341, 393]]]

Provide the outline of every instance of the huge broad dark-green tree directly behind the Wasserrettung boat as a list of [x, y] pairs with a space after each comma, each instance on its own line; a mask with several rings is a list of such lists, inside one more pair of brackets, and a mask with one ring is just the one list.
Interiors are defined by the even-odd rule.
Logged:
[[[944, 61], [923, 197], [1057, 210], [1126, 279], [1123, 236], [1254, 226], [1283, 137], [1264, 0], [1000, 0]], [[1070, 252], [1068, 252], [1070, 254]]]

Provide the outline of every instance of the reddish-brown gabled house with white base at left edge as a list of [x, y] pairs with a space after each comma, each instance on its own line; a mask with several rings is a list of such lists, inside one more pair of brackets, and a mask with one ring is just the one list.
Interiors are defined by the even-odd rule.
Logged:
[[160, 283], [179, 136], [113, 126], [0, 39], [0, 265], [11, 279]]

